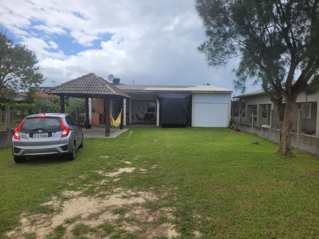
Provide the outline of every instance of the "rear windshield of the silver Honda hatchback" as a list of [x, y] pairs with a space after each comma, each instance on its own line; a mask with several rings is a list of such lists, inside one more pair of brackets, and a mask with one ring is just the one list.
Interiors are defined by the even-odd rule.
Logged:
[[21, 130], [61, 130], [61, 120], [59, 118], [34, 118], [26, 119]]

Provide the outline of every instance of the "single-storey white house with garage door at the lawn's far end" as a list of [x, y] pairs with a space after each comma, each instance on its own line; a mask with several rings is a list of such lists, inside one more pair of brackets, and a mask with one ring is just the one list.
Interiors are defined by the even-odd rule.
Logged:
[[[118, 89], [128, 94], [131, 99], [120, 105], [120, 100], [113, 98], [110, 102], [110, 112], [117, 118], [121, 108], [125, 112], [124, 125], [137, 122], [137, 116], [151, 118], [151, 123], [160, 125], [159, 101], [155, 92], [190, 92], [188, 105], [189, 126], [194, 127], [227, 127], [230, 121], [232, 91], [215, 86], [185, 86], [185, 85], [125, 85], [115, 84]], [[103, 99], [93, 98], [92, 124], [103, 122]]]

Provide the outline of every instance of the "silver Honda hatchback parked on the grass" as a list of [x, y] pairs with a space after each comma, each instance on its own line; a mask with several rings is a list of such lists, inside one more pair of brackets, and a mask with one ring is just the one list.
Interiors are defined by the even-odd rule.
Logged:
[[83, 126], [70, 114], [29, 115], [13, 132], [14, 162], [23, 163], [31, 156], [62, 154], [74, 160], [77, 148], [83, 147]]

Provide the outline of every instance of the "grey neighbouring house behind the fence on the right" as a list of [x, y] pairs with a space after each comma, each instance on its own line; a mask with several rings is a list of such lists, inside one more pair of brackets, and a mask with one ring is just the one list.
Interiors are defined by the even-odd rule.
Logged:
[[[243, 114], [243, 122], [246, 124], [252, 123], [252, 112], [254, 112], [254, 121], [256, 125], [264, 126], [270, 125], [270, 110], [274, 110], [274, 105], [270, 101], [269, 96], [264, 90], [251, 91], [242, 95], [235, 96], [239, 98], [239, 113], [245, 109]], [[283, 98], [285, 100], [285, 98]], [[301, 92], [297, 98], [294, 111], [293, 111], [293, 132], [297, 131], [297, 115], [298, 110], [302, 110], [301, 113], [301, 129], [302, 132], [311, 132], [316, 129], [317, 137], [319, 137], [319, 92], [313, 95], [307, 95], [305, 91]], [[285, 101], [284, 101], [285, 103]], [[283, 107], [284, 108], [284, 107]], [[252, 111], [254, 109], [254, 111]], [[273, 111], [272, 115], [272, 128], [278, 129], [278, 122], [276, 117], [276, 111]]]

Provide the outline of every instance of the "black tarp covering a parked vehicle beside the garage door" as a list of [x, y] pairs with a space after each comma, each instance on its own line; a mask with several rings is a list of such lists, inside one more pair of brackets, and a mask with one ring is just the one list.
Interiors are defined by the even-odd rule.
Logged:
[[164, 123], [186, 123], [190, 92], [155, 92], [159, 101], [160, 121]]

